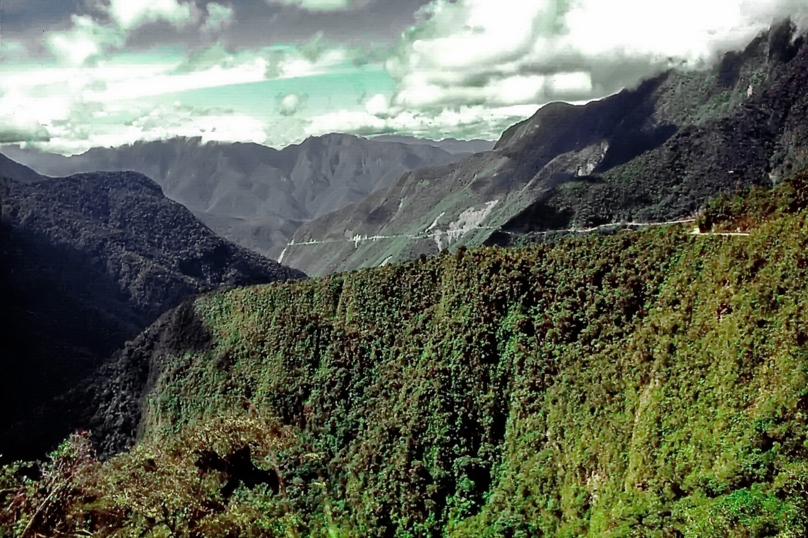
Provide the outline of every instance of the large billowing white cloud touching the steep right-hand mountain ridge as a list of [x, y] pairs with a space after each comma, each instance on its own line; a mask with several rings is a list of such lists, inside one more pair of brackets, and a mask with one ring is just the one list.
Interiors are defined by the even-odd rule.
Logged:
[[603, 97], [747, 44], [800, 0], [433, 0], [386, 69], [393, 105], [507, 107]]

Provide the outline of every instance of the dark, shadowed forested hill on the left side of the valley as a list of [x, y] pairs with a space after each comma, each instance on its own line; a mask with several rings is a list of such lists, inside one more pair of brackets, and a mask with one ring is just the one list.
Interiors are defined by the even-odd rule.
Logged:
[[[99, 366], [157, 317], [216, 288], [301, 278], [218, 237], [134, 172], [0, 178], [0, 454], [63, 437], [37, 404]], [[18, 425], [20, 420], [30, 423]], [[34, 428], [32, 431], [31, 428]]]

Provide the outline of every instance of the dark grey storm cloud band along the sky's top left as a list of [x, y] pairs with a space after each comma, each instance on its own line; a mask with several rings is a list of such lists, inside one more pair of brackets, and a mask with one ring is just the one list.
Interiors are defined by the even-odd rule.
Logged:
[[[137, 0], [128, 0], [137, 2]], [[178, 0], [179, 4], [187, 4]], [[415, 23], [414, 14], [428, 0], [372, 0], [347, 10], [307, 10], [294, 3], [264, 0], [196, 0], [192, 20], [177, 24], [152, 20], [128, 29], [125, 49], [143, 51], [176, 46], [189, 51], [207, 48], [217, 40], [229, 50], [300, 43], [322, 34], [326, 44], [392, 44]], [[233, 8], [232, 20], [218, 31], [208, 31], [208, 4]], [[108, 0], [3, 0], [2, 39], [14, 40], [34, 56], [47, 52], [43, 38], [72, 26], [71, 16], [89, 15], [103, 26], [114, 26], [106, 11]]]

